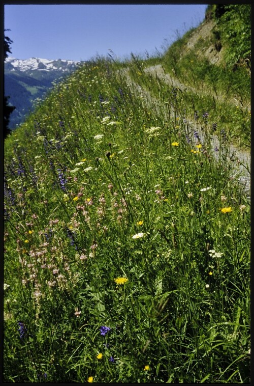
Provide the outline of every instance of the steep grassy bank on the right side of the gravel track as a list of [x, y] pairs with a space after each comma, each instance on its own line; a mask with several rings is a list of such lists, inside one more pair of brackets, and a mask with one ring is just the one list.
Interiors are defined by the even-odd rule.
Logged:
[[[216, 26], [212, 32], [216, 33]], [[221, 30], [220, 26], [220, 30]], [[233, 66], [222, 60], [212, 64], [204, 51], [210, 46], [214, 50], [213, 35], [204, 40], [200, 37], [193, 47], [188, 39], [195, 30], [189, 30], [177, 39], [165, 52], [160, 62], [167, 73], [177, 78], [187, 91], [184, 102], [193, 110], [202, 112], [202, 105], [209, 112], [209, 119], [224, 126], [231, 141], [240, 148], [250, 147], [250, 71], [244, 61]], [[226, 31], [224, 31], [226, 34]], [[216, 34], [215, 34], [216, 36]], [[224, 44], [226, 44], [224, 40]], [[202, 114], [204, 113], [204, 109]], [[200, 114], [201, 115], [201, 114]]]

